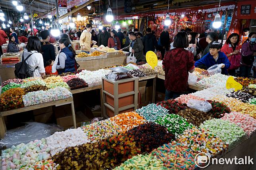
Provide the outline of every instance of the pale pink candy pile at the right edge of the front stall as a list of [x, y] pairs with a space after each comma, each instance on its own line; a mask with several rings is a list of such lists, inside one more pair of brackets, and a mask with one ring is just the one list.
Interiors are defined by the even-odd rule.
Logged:
[[221, 119], [235, 123], [237, 126], [243, 128], [248, 137], [250, 137], [250, 134], [256, 130], [256, 120], [246, 114], [231, 112], [230, 114], [221, 117]]

